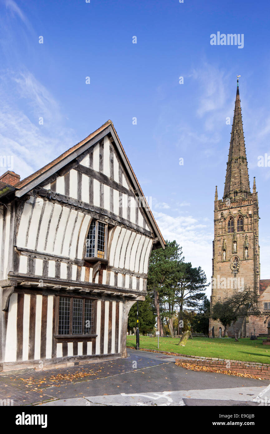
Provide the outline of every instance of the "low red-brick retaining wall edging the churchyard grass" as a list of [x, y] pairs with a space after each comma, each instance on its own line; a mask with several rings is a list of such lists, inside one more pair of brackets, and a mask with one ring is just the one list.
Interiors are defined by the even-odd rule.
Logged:
[[230, 370], [240, 374], [257, 375], [265, 380], [270, 380], [270, 364], [258, 362], [242, 362], [241, 360], [228, 360], [213, 357], [177, 358], [176, 363], [189, 363], [196, 366]]

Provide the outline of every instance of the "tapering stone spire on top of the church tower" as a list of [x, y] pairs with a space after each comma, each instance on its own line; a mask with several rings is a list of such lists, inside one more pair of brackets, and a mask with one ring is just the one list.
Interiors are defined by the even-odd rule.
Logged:
[[234, 120], [231, 129], [231, 142], [223, 199], [230, 197], [231, 200], [234, 201], [234, 199], [240, 199], [248, 194], [250, 194], [250, 185], [247, 170], [247, 156], [244, 141], [239, 84], [237, 79]]

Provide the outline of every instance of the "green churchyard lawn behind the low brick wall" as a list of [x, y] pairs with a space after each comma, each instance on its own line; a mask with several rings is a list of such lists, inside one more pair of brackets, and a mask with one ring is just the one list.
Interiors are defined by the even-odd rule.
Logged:
[[[240, 339], [189, 339], [185, 347], [177, 345], [179, 339], [159, 338], [159, 351], [169, 351], [186, 355], [218, 357], [244, 362], [270, 363], [270, 345], [262, 345], [263, 339], [251, 341]], [[136, 336], [127, 336], [127, 346], [136, 348]], [[157, 338], [140, 336], [140, 349], [157, 350]]]

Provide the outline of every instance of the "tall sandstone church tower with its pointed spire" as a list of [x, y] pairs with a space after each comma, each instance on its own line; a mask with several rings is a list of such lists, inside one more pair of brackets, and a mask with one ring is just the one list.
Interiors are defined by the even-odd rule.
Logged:
[[[247, 169], [247, 156], [244, 142], [242, 113], [237, 79], [237, 92], [231, 141], [227, 162], [224, 194], [218, 199], [215, 190], [214, 241], [212, 259], [211, 306], [227, 293], [241, 290], [244, 286], [260, 293], [260, 247], [258, 242], [258, 196], [255, 178], [253, 191]], [[249, 319], [240, 321], [242, 335], [248, 333]], [[214, 326], [215, 336], [218, 322], [210, 321], [209, 336]], [[228, 336], [233, 336], [229, 329]]]

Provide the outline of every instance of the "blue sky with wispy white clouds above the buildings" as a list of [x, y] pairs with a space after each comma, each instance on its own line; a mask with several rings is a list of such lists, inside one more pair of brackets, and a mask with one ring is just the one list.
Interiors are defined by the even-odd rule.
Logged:
[[[270, 156], [269, 13], [249, 0], [1, 1], [0, 155], [14, 155], [24, 178], [111, 119], [163, 236], [210, 282], [215, 185], [221, 198], [241, 75], [270, 278], [270, 167], [257, 164]], [[244, 34], [244, 47], [211, 45], [217, 32]]]

